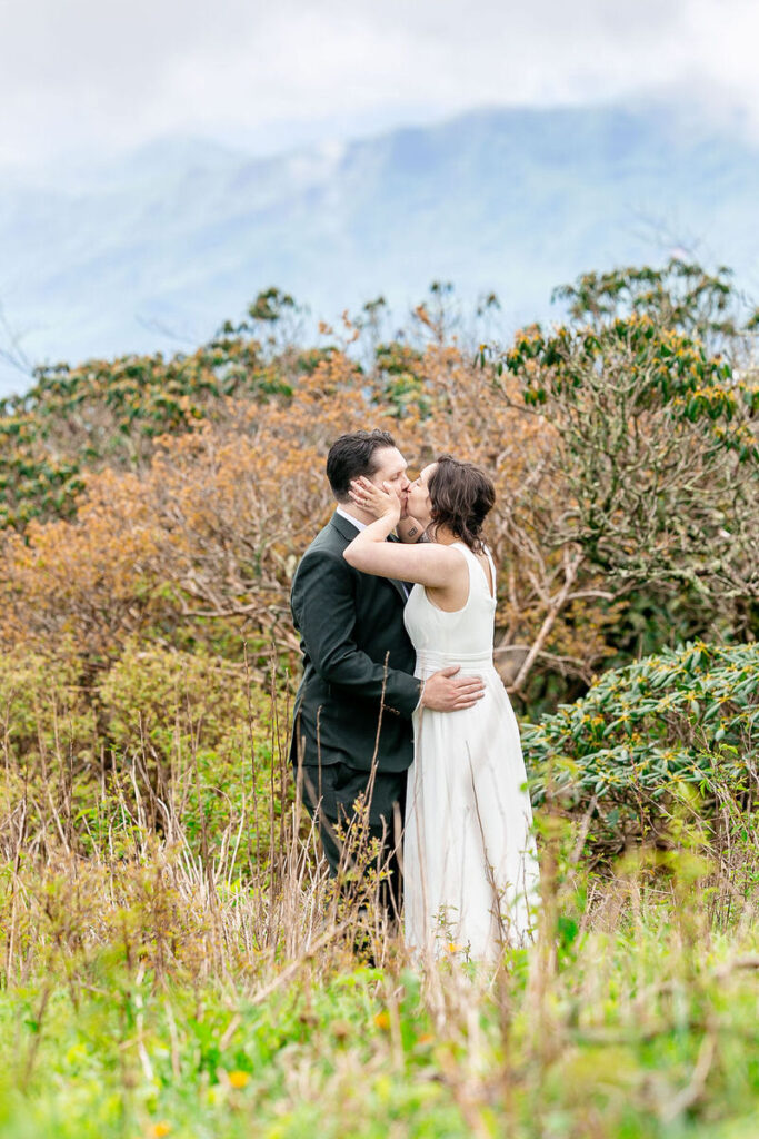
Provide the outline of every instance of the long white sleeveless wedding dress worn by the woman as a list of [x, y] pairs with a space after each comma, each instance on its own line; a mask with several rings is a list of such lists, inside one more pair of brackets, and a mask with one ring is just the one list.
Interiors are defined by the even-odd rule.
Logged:
[[[485, 680], [485, 696], [462, 712], [414, 714], [404, 861], [406, 944], [435, 957], [494, 960], [530, 936], [538, 868], [533, 812], [517, 720], [493, 664], [495, 599], [477, 557], [463, 609], [445, 613], [414, 585], [405, 624], [418, 677], [446, 665]], [[493, 559], [488, 554], [495, 583]]]

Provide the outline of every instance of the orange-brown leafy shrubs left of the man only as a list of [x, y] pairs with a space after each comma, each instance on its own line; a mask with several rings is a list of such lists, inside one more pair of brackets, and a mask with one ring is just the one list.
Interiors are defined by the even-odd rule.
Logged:
[[86, 475], [71, 522], [6, 533], [2, 641], [65, 640], [97, 663], [133, 634], [213, 640], [217, 618], [292, 646], [289, 581], [330, 508], [324, 450], [365, 413], [352, 378], [339, 357], [292, 404], [230, 401], [224, 425], [164, 436], [140, 474]]

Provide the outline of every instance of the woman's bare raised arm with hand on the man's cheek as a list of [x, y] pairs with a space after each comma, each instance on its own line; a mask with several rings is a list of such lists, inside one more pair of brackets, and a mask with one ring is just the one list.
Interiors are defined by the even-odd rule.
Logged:
[[436, 542], [409, 546], [388, 542], [401, 518], [401, 499], [395, 491], [382, 491], [369, 480], [356, 480], [350, 497], [357, 506], [378, 518], [362, 530], [345, 550], [348, 565], [377, 577], [414, 581], [430, 588], [456, 585], [468, 573], [465, 559], [457, 550]]

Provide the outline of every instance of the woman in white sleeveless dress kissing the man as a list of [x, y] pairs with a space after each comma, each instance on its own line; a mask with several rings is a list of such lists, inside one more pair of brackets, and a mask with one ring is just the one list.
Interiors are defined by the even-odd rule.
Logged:
[[[496, 577], [482, 542], [493, 507], [490, 480], [443, 456], [406, 492], [368, 478], [352, 484], [356, 506], [374, 515], [344, 557], [356, 570], [415, 582], [404, 621], [424, 680], [446, 665], [480, 675], [472, 708], [414, 713], [404, 835], [407, 944], [424, 954], [452, 950], [494, 960], [523, 944], [538, 870], [519, 729], [493, 665]], [[397, 528], [403, 542], [388, 542]], [[412, 542], [424, 530], [427, 541]]]

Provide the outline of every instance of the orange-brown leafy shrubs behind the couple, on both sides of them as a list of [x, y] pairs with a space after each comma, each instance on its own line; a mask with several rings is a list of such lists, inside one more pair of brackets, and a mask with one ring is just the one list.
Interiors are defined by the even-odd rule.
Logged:
[[[327, 450], [344, 431], [376, 426], [394, 433], [412, 467], [451, 451], [494, 477], [488, 530], [508, 639], [500, 661], [523, 662], [561, 574], [560, 554], [539, 549], [539, 511], [551, 495], [556, 509], [566, 506], [560, 489], [546, 485], [552, 429], [525, 410], [515, 383], [504, 400], [455, 345], [419, 353], [401, 418], [391, 383], [331, 350], [291, 398], [230, 398], [215, 421], [159, 439], [141, 469], [86, 474], [74, 518], [6, 534], [0, 642], [71, 646], [96, 667], [133, 637], [232, 656], [244, 641], [259, 655], [272, 644], [294, 650], [292, 573], [333, 506]], [[593, 604], [569, 624], [554, 615], [562, 658], [587, 672], [607, 652], [604, 623]]]

